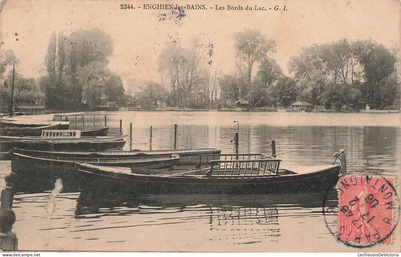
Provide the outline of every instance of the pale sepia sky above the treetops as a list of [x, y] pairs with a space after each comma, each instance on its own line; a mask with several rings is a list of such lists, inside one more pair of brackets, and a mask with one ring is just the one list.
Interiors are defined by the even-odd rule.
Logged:
[[[108, 67], [126, 84], [127, 79], [160, 82], [157, 59], [166, 42], [185, 44], [193, 36], [213, 44], [211, 69], [217, 68], [225, 74], [235, 71], [233, 34], [246, 28], [260, 30], [276, 41], [277, 51], [269, 56], [285, 74], [289, 74], [290, 57], [298, 56], [303, 47], [312, 44], [341, 38], [371, 39], [399, 49], [401, 40], [397, 0], [124, 1], [136, 9], [121, 9], [122, 3], [2, 0], [0, 52], [14, 51], [20, 59], [16, 70], [26, 77], [38, 78], [46, 74], [45, 54], [53, 31], [69, 34], [77, 29], [100, 28], [113, 39], [114, 51]], [[144, 10], [143, 4], [205, 4], [207, 9], [185, 10], [186, 16], [180, 22], [174, 17], [160, 21], [160, 14], [172, 17], [171, 10]], [[215, 10], [216, 5], [225, 10]], [[242, 6], [243, 10], [227, 10], [227, 5]], [[272, 10], [245, 10], [247, 5]], [[273, 10], [274, 6], [281, 10]]]

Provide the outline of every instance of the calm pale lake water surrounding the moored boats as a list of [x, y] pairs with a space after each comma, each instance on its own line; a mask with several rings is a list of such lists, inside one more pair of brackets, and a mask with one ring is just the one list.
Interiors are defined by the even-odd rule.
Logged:
[[[223, 153], [233, 153], [230, 141], [237, 131], [235, 120], [239, 121], [241, 153], [271, 153], [271, 140], [275, 140], [277, 153], [316, 146], [278, 156], [283, 166], [304, 166], [331, 164], [333, 154], [344, 148], [348, 172], [399, 174], [400, 114], [89, 112], [85, 113], [85, 128], [93, 126], [94, 114], [96, 127], [104, 126], [107, 114], [109, 133], [118, 132], [122, 119], [123, 133], [128, 134], [131, 122], [132, 149], [172, 149], [177, 124], [177, 148], [217, 146]], [[27, 180], [32, 191], [16, 193], [13, 210], [17, 220], [12, 231], [18, 236], [19, 249], [308, 251], [322, 245], [321, 251], [355, 251], [336, 242], [326, 229], [323, 193], [99, 198], [65, 186], [55, 198], [55, 211], [48, 213], [43, 206], [54, 182], [50, 177]], [[68, 183], [74, 182], [63, 181]], [[336, 223], [337, 204], [332, 190], [326, 203], [334, 208], [326, 217], [329, 224]]]

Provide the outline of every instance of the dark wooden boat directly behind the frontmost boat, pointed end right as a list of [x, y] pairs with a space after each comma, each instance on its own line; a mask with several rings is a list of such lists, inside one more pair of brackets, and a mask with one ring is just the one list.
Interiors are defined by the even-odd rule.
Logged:
[[161, 157], [134, 157], [134, 158], [75, 158], [75, 157], [35, 157], [12, 152], [13, 162], [20, 168], [51, 169], [76, 173], [75, 162], [85, 162], [95, 165], [130, 167], [142, 169], [166, 169], [178, 164], [180, 156], [176, 154]]

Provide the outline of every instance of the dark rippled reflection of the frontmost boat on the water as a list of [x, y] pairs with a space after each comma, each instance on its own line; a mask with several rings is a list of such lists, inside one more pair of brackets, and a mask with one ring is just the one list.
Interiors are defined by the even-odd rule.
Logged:
[[[275, 237], [282, 235], [280, 220], [283, 217], [321, 215], [322, 201], [323, 193], [132, 197], [98, 195], [85, 190], [77, 199], [75, 219], [89, 219], [91, 224], [71, 232], [191, 223], [186, 230], [201, 231], [208, 225], [213, 235], [210, 240], [225, 240], [231, 244], [259, 243], [275, 241]], [[335, 190], [328, 193], [328, 203], [336, 208]], [[145, 216], [146, 221], [138, 215]], [[110, 216], [115, 222], [96, 222]], [[137, 218], [127, 219], [124, 216]], [[287, 225], [284, 223], [284, 226]]]

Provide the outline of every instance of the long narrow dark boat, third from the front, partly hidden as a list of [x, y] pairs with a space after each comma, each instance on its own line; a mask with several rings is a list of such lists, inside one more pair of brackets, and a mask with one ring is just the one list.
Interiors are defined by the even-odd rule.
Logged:
[[[20, 147], [22, 148], [22, 147]], [[24, 148], [26, 149], [26, 148]], [[67, 150], [67, 149], [66, 149]], [[150, 157], [150, 156], [170, 156], [180, 155], [179, 165], [195, 165], [199, 162], [200, 156], [203, 160], [211, 160], [213, 156], [219, 157], [220, 148], [199, 148], [199, 149], [176, 149], [158, 151], [26, 151], [14, 149], [14, 152], [30, 156], [52, 156], [52, 157], [77, 157], [77, 158], [127, 158], [127, 157]], [[193, 168], [193, 167], [192, 167]]]

